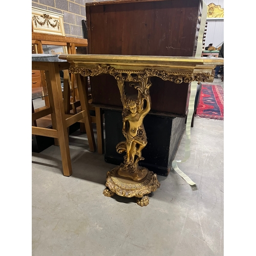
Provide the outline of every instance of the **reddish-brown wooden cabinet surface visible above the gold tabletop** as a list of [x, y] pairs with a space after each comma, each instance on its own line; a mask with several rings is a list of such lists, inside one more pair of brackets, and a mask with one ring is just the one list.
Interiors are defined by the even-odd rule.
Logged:
[[198, 8], [199, 0], [87, 6], [90, 53], [192, 56]]

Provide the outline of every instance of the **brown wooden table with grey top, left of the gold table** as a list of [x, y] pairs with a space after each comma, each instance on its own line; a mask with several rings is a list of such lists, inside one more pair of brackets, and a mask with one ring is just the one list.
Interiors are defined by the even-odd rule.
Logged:
[[52, 129], [32, 126], [32, 134], [55, 138], [56, 144], [59, 144], [60, 147], [64, 176], [70, 176], [72, 174], [67, 130], [69, 126], [78, 121], [84, 122], [86, 125], [90, 151], [95, 152], [96, 150], [86, 89], [82, 86], [79, 75], [76, 75], [76, 79], [78, 81], [77, 87], [81, 103], [81, 111], [75, 115], [65, 114], [59, 71], [69, 69], [69, 67], [70, 63], [59, 59], [57, 55], [32, 54], [32, 69], [44, 70], [46, 73], [50, 104], [48, 108], [32, 113], [32, 122], [50, 114], [52, 119]]

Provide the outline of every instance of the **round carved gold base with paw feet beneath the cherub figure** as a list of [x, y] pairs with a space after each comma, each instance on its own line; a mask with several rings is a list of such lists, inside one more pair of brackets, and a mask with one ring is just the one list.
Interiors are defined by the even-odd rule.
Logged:
[[117, 166], [106, 174], [104, 196], [112, 197], [116, 194], [121, 197], [136, 197], [138, 205], [147, 206], [149, 203], [148, 194], [160, 187], [157, 175], [146, 169], [145, 178], [140, 181], [134, 181], [120, 177], [117, 174], [119, 168], [120, 166]]

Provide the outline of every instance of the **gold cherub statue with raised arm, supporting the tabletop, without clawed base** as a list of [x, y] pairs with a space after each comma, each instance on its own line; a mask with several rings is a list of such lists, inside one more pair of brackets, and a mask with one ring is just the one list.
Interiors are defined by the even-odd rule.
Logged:
[[137, 89], [137, 98], [126, 97], [123, 83], [119, 84], [124, 108], [122, 133], [126, 141], [118, 143], [116, 149], [118, 153], [126, 151], [126, 155], [124, 156], [124, 165], [120, 165], [117, 173], [121, 177], [139, 181], [146, 176], [146, 169], [139, 166], [138, 162], [144, 160], [141, 157], [141, 151], [147, 144], [143, 119], [151, 109], [149, 92], [151, 82], [149, 79], [145, 79], [142, 82], [131, 83], [130, 86]]

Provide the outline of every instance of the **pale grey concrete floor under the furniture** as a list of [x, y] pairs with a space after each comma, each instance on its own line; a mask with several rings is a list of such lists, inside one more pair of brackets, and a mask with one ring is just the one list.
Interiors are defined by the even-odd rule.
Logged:
[[[222, 256], [223, 126], [195, 118], [191, 155], [179, 167], [196, 189], [171, 170], [158, 176], [161, 186], [146, 207], [102, 194], [115, 165], [89, 152], [84, 134], [70, 136], [70, 177], [62, 175], [59, 147], [32, 153], [32, 255]], [[176, 159], [184, 144], [185, 136]]]

